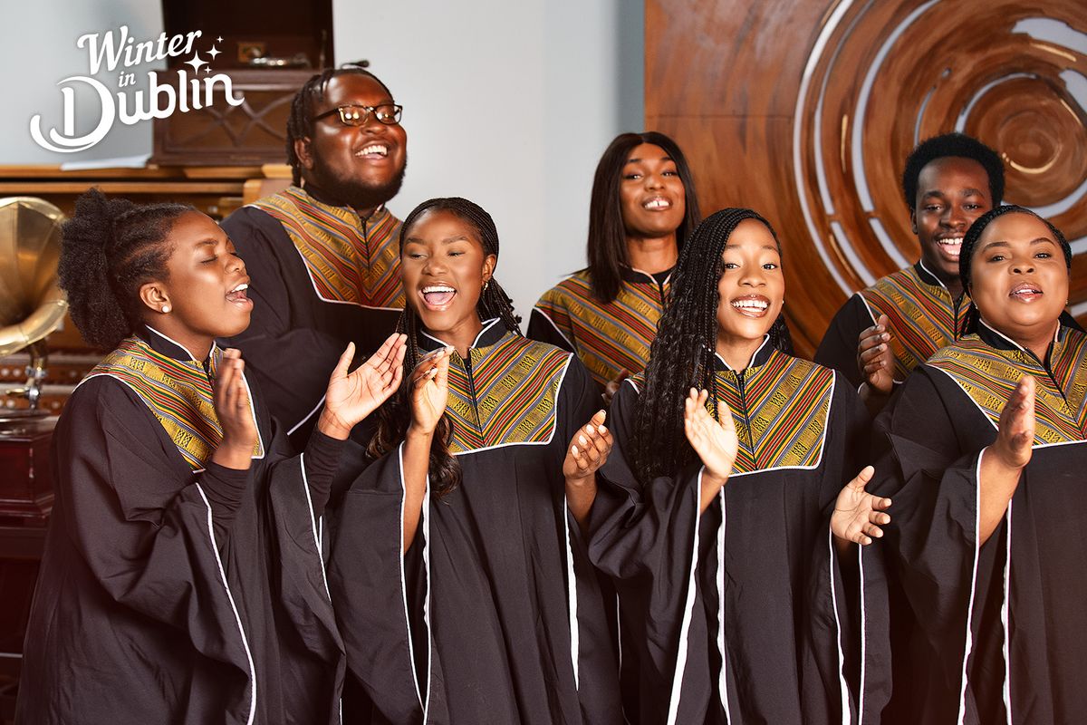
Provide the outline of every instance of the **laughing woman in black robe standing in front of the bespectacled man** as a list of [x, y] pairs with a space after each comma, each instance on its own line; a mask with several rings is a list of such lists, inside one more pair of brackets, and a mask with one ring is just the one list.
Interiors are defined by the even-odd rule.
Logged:
[[432, 199], [400, 236], [409, 384], [337, 513], [329, 586], [377, 722], [620, 723], [580, 524], [611, 437], [573, 354], [528, 340], [498, 233]]

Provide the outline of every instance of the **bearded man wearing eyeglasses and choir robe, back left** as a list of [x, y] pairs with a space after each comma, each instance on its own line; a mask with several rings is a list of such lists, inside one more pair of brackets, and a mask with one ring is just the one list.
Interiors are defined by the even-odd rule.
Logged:
[[254, 302], [249, 329], [230, 343], [297, 450], [347, 343], [365, 359], [403, 309], [400, 220], [385, 207], [404, 176], [401, 112], [360, 67], [313, 76], [287, 122], [293, 184], [222, 224], [246, 261]]

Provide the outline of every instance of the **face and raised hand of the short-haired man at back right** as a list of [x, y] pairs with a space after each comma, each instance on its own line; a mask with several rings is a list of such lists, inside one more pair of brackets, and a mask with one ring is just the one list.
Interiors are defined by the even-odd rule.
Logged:
[[[992, 209], [992, 191], [985, 167], [973, 159], [935, 159], [917, 175], [917, 196], [910, 225], [921, 243], [921, 262], [947, 287], [952, 299], [962, 296], [959, 249], [974, 221]], [[878, 412], [894, 388], [895, 357], [890, 321], [880, 315], [858, 337], [857, 366], [864, 375], [861, 399]]]

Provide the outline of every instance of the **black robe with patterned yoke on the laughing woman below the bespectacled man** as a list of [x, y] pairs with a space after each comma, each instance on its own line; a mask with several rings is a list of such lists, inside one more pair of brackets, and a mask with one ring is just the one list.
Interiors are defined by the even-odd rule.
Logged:
[[402, 446], [337, 511], [329, 584], [349, 670], [375, 722], [621, 723], [605, 603], [562, 476], [598, 408], [592, 382], [498, 320], [468, 358], [453, 353], [446, 412], [463, 479], [427, 496], [408, 553]]

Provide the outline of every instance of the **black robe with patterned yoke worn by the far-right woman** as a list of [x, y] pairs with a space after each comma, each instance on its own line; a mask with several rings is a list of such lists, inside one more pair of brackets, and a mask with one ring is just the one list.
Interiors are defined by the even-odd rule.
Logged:
[[[1034, 451], [1003, 522], [978, 547], [982, 451], [1024, 374], [1037, 383]], [[894, 504], [876, 546], [917, 632], [895, 672], [896, 696], [904, 697], [888, 715], [1079, 722], [1087, 712], [1087, 337], [1062, 326], [1042, 362], [983, 322], [910, 376], [877, 428], [887, 451], [870, 489]], [[875, 571], [878, 560], [866, 561]]]

